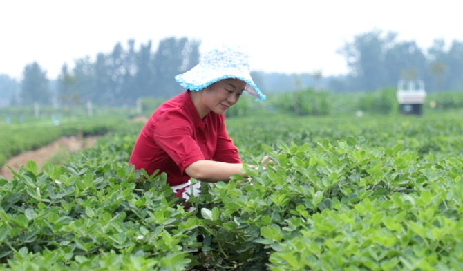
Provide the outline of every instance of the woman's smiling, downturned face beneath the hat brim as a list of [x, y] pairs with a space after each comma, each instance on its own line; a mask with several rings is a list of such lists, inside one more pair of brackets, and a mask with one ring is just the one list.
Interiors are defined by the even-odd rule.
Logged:
[[[243, 94], [246, 83], [235, 78], [220, 80], [203, 89], [202, 104], [207, 113], [213, 111], [223, 114], [230, 106], [236, 104]], [[201, 114], [201, 113], [200, 113]]]

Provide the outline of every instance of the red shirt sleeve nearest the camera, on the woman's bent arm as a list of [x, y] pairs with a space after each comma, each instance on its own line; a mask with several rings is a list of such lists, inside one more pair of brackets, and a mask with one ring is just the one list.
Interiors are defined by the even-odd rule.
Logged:
[[177, 110], [164, 112], [154, 129], [155, 144], [176, 162], [181, 174], [193, 162], [205, 159], [193, 138], [193, 131], [188, 116]]

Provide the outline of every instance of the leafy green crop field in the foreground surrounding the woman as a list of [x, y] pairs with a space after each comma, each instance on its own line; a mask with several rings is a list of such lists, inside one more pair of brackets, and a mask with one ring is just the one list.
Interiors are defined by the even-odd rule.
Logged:
[[461, 109], [266, 110], [227, 127], [247, 165], [275, 163], [202, 183], [193, 212], [128, 165], [141, 124], [29, 162], [0, 180], [0, 269], [463, 270]]

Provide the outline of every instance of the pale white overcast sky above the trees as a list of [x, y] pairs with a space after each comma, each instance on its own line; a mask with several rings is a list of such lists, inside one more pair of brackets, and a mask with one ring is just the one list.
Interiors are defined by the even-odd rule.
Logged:
[[374, 28], [398, 32], [426, 49], [434, 39], [463, 41], [458, 1], [418, 0], [12, 0], [0, 2], [0, 74], [21, 79], [37, 61], [50, 79], [67, 62], [110, 53], [128, 39], [190, 37], [201, 50], [222, 41], [246, 44], [252, 70], [347, 73], [337, 48]]

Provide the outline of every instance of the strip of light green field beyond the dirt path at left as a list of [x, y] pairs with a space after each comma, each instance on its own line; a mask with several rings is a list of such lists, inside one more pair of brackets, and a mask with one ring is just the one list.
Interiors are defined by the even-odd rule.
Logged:
[[12, 107], [0, 109], [0, 117], [0, 167], [12, 156], [38, 149], [63, 136], [104, 135], [129, 123], [127, 112], [120, 109], [104, 109], [91, 117], [82, 110], [76, 110], [70, 117], [65, 111], [44, 109], [36, 117], [30, 109]]

